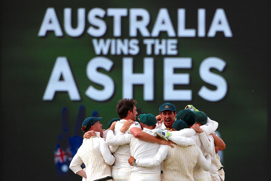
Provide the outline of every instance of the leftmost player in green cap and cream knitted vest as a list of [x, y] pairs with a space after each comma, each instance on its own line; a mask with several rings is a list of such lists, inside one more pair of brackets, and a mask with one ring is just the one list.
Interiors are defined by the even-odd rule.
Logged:
[[[109, 151], [105, 139], [100, 137], [103, 133], [100, 120], [102, 118], [89, 117], [82, 124], [83, 132], [93, 130], [96, 135], [90, 139], [84, 138], [83, 143], [74, 155], [70, 169], [87, 181], [92, 180], [112, 180], [111, 167], [115, 158]], [[86, 169], [81, 168], [82, 164], [86, 165]], [[95, 169], [93, 169], [95, 168]]]

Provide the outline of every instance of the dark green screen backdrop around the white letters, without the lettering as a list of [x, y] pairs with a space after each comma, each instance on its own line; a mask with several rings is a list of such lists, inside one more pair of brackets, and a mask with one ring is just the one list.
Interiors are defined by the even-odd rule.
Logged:
[[[55, 8], [63, 30], [63, 37], [53, 32], [38, 37], [46, 9]], [[62, 132], [61, 111], [69, 111], [69, 125], [73, 130], [80, 105], [86, 106], [86, 116], [94, 110], [107, 122], [118, 117], [115, 107], [122, 98], [123, 55], [107, 55], [114, 62], [111, 71], [99, 70], [109, 75], [115, 84], [113, 96], [103, 102], [90, 99], [85, 91], [95, 84], [86, 76], [86, 66], [96, 57], [92, 38], [86, 33], [69, 37], [64, 32], [64, 8], [72, 8], [73, 17], [78, 8], [144, 8], [151, 17], [151, 31], [160, 8], [167, 8], [177, 30], [177, 9], [186, 9], [186, 27], [197, 29], [197, 12], [206, 9], [206, 34], [217, 8], [223, 8], [233, 37], [217, 32], [215, 37], [176, 37], [178, 55], [191, 57], [191, 69], [178, 69], [176, 73], [189, 73], [189, 85], [176, 85], [175, 89], [192, 90], [192, 101], [170, 101], [177, 110], [187, 104], [219, 122], [226, 149], [224, 170], [226, 180], [270, 180], [270, 1], [6, 1], [1, 0], [1, 180], [64, 180], [55, 173], [54, 150], [57, 137]], [[114, 38], [112, 17], [103, 18], [107, 33], [100, 38]], [[86, 18], [87, 21], [87, 18]], [[122, 37], [129, 38], [129, 17], [123, 18]], [[116, 37], [118, 38], [118, 37]], [[150, 37], [151, 38], [151, 37]], [[160, 33], [159, 39], [168, 38]], [[154, 100], [143, 100], [143, 86], [134, 86], [134, 99], [139, 113], [159, 114], [163, 100], [163, 59], [170, 56], [147, 56], [141, 35], [141, 51], [134, 59], [134, 72], [143, 72], [143, 58], [154, 57]], [[57, 92], [52, 101], [42, 97], [57, 57], [69, 61], [73, 77], [81, 97], [71, 101], [67, 92]], [[217, 102], [209, 102], [198, 95], [205, 85], [199, 76], [199, 65], [207, 57], [218, 57], [226, 62], [222, 72], [212, 70], [226, 79], [226, 96]], [[83, 134], [82, 134], [83, 135]], [[65, 180], [81, 180], [71, 170]], [[68, 179], [67, 179], [68, 178]]]

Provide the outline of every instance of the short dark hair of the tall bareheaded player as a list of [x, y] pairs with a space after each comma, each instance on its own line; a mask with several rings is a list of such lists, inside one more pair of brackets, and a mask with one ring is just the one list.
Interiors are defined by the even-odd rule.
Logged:
[[133, 113], [134, 106], [136, 106], [136, 100], [134, 99], [121, 99], [119, 100], [116, 110], [120, 119], [125, 118], [128, 115], [128, 111]]

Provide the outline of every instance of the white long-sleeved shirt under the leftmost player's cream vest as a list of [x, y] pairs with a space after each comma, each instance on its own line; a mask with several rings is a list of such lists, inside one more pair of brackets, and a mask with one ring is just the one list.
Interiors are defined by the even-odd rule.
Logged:
[[[104, 158], [105, 163], [108, 164], [108, 165], [114, 164], [115, 158], [113, 157], [113, 155], [109, 151], [108, 145], [105, 143], [105, 139], [100, 137], [100, 132], [95, 132], [95, 133], [96, 133], [97, 136], [93, 136], [93, 137], [91, 137], [89, 139], [84, 138], [83, 143], [86, 143], [86, 144], [92, 143], [91, 140], [90, 140], [90, 139], [92, 139], [94, 149], [101, 153], [101, 155]], [[82, 147], [82, 145], [81, 145], [81, 147]], [[74, 155], [73, 159], [70, 162], [70, 169], [74, 173], [77, 173], [80, 170], [83, 170], [82, 167], [81, 167], [82, 164], [83, 164], [83, 160], [76, 153]]]

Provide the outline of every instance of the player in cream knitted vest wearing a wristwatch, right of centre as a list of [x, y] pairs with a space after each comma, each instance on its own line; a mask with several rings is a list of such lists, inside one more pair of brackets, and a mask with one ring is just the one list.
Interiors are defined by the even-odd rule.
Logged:
[[[179, 126], [187, 126], [184, 121], [179, 122], [182, 122], [182, 124], [178, 124]], [[207, 171], [211, 166], [210, 155], [207, 154], [205, 159], [200, 148], [196, 145], [187, 147], [175, 145], [173, 149], [168, 146], [161, 145], [158, 153], [152, 158], [135, 159], [131, 156], [128, 161], [130, 165], [139, 167], [153, 167], [160, 165], [164, 161], [162, 180], [178, 181], [194, 180], [193, 167], [196, 163]]]

